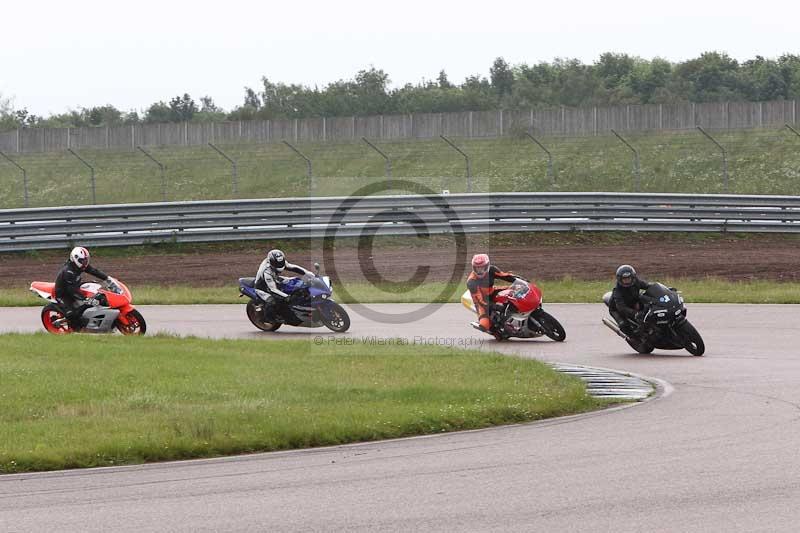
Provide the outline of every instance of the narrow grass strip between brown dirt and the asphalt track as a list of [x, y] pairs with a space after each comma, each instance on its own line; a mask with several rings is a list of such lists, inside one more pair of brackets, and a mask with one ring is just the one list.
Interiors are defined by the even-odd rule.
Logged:
[[[565, 278], [563, 280], [536, 281], [544, 292], [545, 302], [597, 303], [603, 293], [611, 290], [613, 280], [587, 281]], [[779, 281], [728, 281], [716, 278], [664, 279], [662, 283], [677, 287], [690, 303], [741, 303], [741, 304], [800, 304], [800, 283]], [[235, 304], [244, 303], [235, 286], [139, 286], [131, 287], [137, 305], [176, 304]], [[390, 288], [367, 283], [347, 283], [344, 287], [334, 283], [334, 298], [349, 303], [456, 303], [466, 290], [462, 284], [455, 286], [443, 282], [419, 286]], [[346, 294], [345, 294], [346, 292]], [[27, 288], [0, 289], [0, 306], [22, 307], [42, 305], [44, 301]]]

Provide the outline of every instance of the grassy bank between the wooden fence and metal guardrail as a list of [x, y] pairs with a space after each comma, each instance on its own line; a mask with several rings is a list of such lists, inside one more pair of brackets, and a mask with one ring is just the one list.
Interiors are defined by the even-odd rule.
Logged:
[[[800, 138], [788, 130], [712, 132], [728, 150], [730, 191], [800, 194]], [[719, 150], [699, 132], [631, 133], [640, 152], [642, 190], [723, 192]], [[474, 191], [633, 191], [632, 154], [616, 137], [546, 137], [554, 182], [543, 152], [525, 138], [457, 139], [470, 155]], [[392, 176], [432, 190], [463, 192], [464, 159], [441, 140], [380, 142], [392, 158]], [[348, 195], [385, 176], [383, 159], [363, 143], [301, 144], [313, 162], [314, 190], [305, 163], [280, 144], [222, 147], [238, 163], [238, 196]], [[209, 147], [153, 147], [167, 167], [169, 200], [233, 196], [231, 166]], [[158, 167], [136, 151], [84, 150], [96, 167], [98, 203], [160, 201]], [[14, 154], [28, 171], [31, 205], [91, 202], [89, 170], [66, 152]], [[22, 178], [0, 161], [0, 208], [22, 206]]]

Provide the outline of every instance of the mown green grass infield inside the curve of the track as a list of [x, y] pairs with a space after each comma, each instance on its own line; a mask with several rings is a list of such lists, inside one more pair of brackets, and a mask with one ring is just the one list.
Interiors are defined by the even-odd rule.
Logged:
[[596, 409], [534, 360], [389, 344], [0, 336], [0, 472], [482, 428]]

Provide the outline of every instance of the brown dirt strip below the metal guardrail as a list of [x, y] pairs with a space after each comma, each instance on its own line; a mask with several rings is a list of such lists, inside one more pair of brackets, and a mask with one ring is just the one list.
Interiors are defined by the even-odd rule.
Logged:
[[[403, 281], [419, 268], [427, 281], [447, 281], [463, 276], [477, 252], [533, 280], [611, 279], [618, 265], [629, 263], [648, 279], [800, 281], [800, 238], [787, 235], [506, 234], [467, 238], [461, 250], [452, 236], [379, 239], [372, 246], [351, 239], [337, 241], [328, 254], [320, 242], [256, 241], [93, 249], [92, 262], [133, 284], [223, 286], [254, 276], [272, 246], [307, 268], [319, 261], [323, 271], [348, 282]], [[0, 287], [51, 280], [66, 255], [66, 250], [0, 255]]]

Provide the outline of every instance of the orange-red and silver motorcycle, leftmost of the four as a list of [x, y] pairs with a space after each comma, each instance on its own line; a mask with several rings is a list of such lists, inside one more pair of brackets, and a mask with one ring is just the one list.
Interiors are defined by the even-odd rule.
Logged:
[[[42, 309], [42, 325], [53, 334], [74, 333], [66, 310], [56, 299], [55, 285], [34, 281], [30, 286], [31, 292], [50, 302]], [[81, 314], [79, 332], [111, 333], [116, 329], [123, 335], [144, 335], [147, 331], [144, 317], [131, 304], [130, 289], [121, 281], [109, 278], [103, 284], [84, 283], [80, 291], [93, 305]]]

